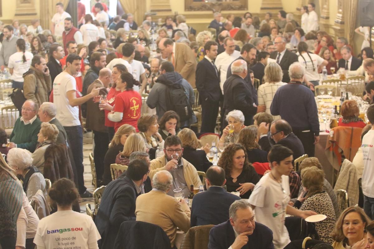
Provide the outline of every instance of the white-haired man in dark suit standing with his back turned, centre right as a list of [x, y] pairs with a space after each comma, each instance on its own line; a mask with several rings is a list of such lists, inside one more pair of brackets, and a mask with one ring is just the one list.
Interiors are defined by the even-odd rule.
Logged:
[[[256, 49], [253, 49], [253, 53], [256, 55]], [[254, 106], [252, 90], [246, 81], [248, 75], [247, 62], [242, 59], [235, 60], [231, 64], [230, 69], [232, 75], [223, 84], [223, 95], [225, 96], [223, 100], [224, 116], [232, 110], [239, 110], [244, 114], [244, 125], [251, 125], [253, 124], [253, 116], [257, 112], [265, 111], [265, 109], [264, 107], [259, 109], [257, 106]], [[223, 127], [225, 125], [227, 125], [226, 122]]]

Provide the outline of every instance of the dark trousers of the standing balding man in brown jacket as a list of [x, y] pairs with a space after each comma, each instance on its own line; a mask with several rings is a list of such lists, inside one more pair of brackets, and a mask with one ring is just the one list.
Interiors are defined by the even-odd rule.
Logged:
[[104, 157], [108, 151], [109, 137], [108, 133], [93, 131], [93, 140], [95, 149], [93, 149], [93, 160], [95, 161], [97, 180], [102, 180], [104, 174]]

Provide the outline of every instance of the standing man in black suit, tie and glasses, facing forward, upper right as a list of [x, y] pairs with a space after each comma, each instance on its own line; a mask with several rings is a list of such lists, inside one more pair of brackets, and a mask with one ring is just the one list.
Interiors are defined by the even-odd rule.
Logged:
[[295, 53], [292, 53], [286, 49], [286, 38], [278, 36], [274, 40], [277, 51], [270, 54], [270, 58], [275, 59], [276, 62], [281, 66], [283, 72], [282, 82], [289, 83], [288, 68], [289, 66], [298, 61], [298, 57]]

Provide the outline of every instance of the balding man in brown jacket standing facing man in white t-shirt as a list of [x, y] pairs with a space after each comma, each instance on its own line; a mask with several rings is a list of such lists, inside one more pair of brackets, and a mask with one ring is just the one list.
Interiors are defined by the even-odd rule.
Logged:
[[104, 125], [105, 113], [104, 109], [99, 108], [100, 96], [106, 96], [108, 94], [107, 89], [111, 81], [112, 71], [109, 68], [102, 68], [99, 71], [99, 78], [93, 81], [87, 88], [88, 93], [95, 87], [104, 87], [99, 96], [93, 99], [93, 101], [87, 102], [87, 116], [86, 116], [86, 128], [93, 131], [93, 140], [95, 141], [95, 149], [93, 150], [96, 175], [98, 183], [102, 181], [102, 175], [104, 174], [104, 157], [108, 150], [109, 137], [108, 128]]

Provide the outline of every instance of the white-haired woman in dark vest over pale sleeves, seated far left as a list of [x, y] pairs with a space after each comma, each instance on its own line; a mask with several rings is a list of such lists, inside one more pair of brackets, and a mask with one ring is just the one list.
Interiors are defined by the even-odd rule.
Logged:
[[47, 195], [45, 179], [39, 169], [33, 165], [31, 152], [26, 149], [12, 148], [8, 152], [7, 160], [16, 174], [21, 175], [22, 187], [28, 200], [31, 200], [39, 189], [43, 191], [45, 196]]

